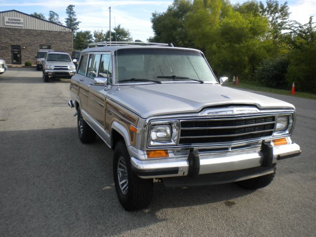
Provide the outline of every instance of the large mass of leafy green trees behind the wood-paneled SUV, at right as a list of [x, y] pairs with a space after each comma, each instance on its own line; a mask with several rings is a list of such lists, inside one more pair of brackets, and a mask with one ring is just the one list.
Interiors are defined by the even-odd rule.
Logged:
[[314, 91], [308, 83], [316, 81], [311, 73], [316, 26], [312, 18], [302, 25], [289, 15], [287, 2], [277, 0], [235, 5], [229, 0], [174, 0], [165, 12], [153, 13], [155, 35], [149, 41], [200, 49], [217, 76], [283, 89], [295, 80], [298, 88]]

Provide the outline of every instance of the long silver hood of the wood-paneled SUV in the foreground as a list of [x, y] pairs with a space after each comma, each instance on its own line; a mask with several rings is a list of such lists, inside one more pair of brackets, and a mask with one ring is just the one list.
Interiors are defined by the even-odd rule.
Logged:
[[198, 113], [205, 107], [245, 104], [258, 109], [294, 109], [271, 97], [209, 83], [164, 83], [116, 86], [109, 91], [112, 100], [142, 118], [167, 114]]

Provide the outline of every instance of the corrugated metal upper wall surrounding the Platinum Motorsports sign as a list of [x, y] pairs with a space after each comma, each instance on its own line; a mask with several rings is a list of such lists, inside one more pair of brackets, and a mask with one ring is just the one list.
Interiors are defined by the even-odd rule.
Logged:
[[[24, 26], [6, 26], [4, 25], [4, 17], [20, 17], [24, 19]], [[61, 31], [61, 32], [71, 32], [71, 29], [67, 27], [63, 27], [61, 25], [57, 25], [54, 23], [50, 23], [45, 20], [38, 19], [33, 16], [29, 16], [27, 14], [23, 14], [18, 11], [8, 11], [8, 12], [0, 12], [0, 27], [4, 28], [17, 28], [17, 29], [28, 29], [28, 30], [41, 30], [41, 31]]]

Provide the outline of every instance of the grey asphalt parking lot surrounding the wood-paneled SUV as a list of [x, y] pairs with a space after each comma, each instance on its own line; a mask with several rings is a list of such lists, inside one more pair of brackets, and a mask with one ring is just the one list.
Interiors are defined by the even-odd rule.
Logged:
[[112, 150], [79, 141], [68, 81], [44, 83], [34, 68], [0, 75], [0, 237], [316, 236], [315, 100], [264, 93], [295, 105], [303, 151], [278, 163], [270, 186], [155, 183], [152, 204], [126, 212]]

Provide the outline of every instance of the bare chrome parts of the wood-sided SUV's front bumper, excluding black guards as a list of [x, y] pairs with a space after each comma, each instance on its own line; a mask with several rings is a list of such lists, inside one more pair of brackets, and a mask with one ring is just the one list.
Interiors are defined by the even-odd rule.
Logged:
[[[279, 157], [293, 157], [299, 155], [300, 152], [300, 146], [295, 143], [273, 147], [273, 163], [276, 163], [279, 160]], [[199, 175], [259, 167], [262, 165], [263, 160], [264, 157], [260, 150], [243, 150], [225, 154], [203, 153], [199, 154]], [[153, 160], [140, 160], [131, 157], [131, 165], [132, 168], [137, 170], [137, 175], [140, 178], [187, 176], [189, 171], [187, 156]], [[157, 175], [159, 170], [163, 171], [169, 168], [178, 168], [178, 173]], [[141, 171], [144, 171], [144, 174], [146, 173], [146, 175], [142, 176]], [[153, 171], [153, 175], [149, 175], [149, 171]]]

